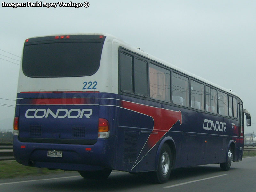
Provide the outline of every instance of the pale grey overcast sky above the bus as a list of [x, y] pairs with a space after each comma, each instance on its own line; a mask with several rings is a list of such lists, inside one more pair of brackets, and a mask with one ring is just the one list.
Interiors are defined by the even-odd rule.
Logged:
[[2, 7], [1, 2], [0, 129], [12, 130], [19, 60], [25, 39], [109, 33], [236, 92], [252, 116], [252, 127], [245, 127], [245, 133], [256, 132], [256, 1], [85, 1], [90, 4], [88, 8], [12, 8]]

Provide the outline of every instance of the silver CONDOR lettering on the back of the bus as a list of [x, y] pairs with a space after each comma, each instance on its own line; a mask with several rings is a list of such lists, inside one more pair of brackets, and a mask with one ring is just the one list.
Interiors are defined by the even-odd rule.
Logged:
[[48, 116], [53, 118], [65, 118], [70, 119], [83, 118], [85, 116], [90, 119], [92, 115], [92, 109], [57, 109], [56, 113], [53, 113], [51, 109], [28, 109], [25, 113], [26, 118], [48, 118]]

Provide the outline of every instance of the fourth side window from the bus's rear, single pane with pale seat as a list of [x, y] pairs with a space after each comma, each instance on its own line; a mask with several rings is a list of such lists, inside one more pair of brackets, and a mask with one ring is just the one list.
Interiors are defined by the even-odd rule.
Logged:
[[191, 108], [204, 110], [204, 85], [191, 80]]

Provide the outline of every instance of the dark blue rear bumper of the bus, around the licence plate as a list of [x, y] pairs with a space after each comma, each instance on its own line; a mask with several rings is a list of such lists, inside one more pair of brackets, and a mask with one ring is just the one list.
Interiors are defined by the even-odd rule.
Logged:
[[[112, 145], [110, 145], [112, 143]], [[100, 170], [113, 168], [114, 137], [98, 139], [93, 145], [21, 142], [13, 137], [16, 161], [25, 166], [63, 170]], [[48, 150], [62, 151], [61, 158], [47, 157]]]

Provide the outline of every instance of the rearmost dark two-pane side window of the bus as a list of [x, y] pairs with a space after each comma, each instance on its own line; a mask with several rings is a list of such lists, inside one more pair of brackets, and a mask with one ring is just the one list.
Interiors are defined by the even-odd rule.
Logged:
[[120, 54], [120, 83], [123, 92], [147, 95], [147, 63], [122, 52]]

